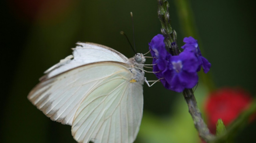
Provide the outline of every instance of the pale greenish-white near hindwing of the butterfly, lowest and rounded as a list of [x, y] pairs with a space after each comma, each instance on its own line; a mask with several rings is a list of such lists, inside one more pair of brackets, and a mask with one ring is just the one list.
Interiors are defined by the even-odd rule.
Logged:
[[120, 72], [104, 79], [81, 102], [72, 123], [78, 142], [133, 142], [143, 110], [143, 89]]

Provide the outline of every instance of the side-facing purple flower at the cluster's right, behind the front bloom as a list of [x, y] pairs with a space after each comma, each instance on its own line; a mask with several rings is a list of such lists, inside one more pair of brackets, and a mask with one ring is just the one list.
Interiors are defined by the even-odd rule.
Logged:
[[203, 71], [207, 73], [210, 70], [211, 64], [205, 57], [202, 56], [197, 40], [193, 37], [185, 37], [183, 42], [185, 42], [185, 45], [183, 45], [181, 48], [184, 49], [184, 51], [195, 53], [196, 57], [198, 58], [199, 65], [196, 71], [200, 71], [201, 67], [203, 67]]

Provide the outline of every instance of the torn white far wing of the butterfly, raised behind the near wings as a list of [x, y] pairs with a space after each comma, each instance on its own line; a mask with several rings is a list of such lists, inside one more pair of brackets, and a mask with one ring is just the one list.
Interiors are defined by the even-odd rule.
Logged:
[[43, 76], [40, 80], [50, 78], [69, 69], [89, 63], [96, 63], [100, 61], [118, 61], [126, 63], [128, 61], [127, 57], [116, 50], [95, 43], [78, 42], [77, 46], [72, 50], [73, 55], [67, 56], [63, 60], [60, 60], [59, 63], [47, 69], [44, 72], [47, 76]]

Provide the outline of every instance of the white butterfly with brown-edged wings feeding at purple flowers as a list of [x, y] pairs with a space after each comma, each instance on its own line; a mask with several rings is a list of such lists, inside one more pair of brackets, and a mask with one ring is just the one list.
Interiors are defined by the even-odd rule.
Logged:
[[143, 112], [145, 57], [77, 45], [73, 55], [44, 72], [28, 99], [52, 120], [71, 125], [78, 142], [133, 142]]

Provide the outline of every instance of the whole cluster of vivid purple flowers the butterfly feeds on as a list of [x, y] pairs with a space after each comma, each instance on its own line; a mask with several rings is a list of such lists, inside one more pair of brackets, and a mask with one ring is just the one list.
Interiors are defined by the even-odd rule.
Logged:
[[198, 83], [197, 72], [201, 67], [207, 73], [211, 64], [204, 58], [198, 42], [192, 37], [184, 38], [183, 52], [172, 56], [165, 49], [164, 36], [154, 36], [148, 44], [153, 59], [153, 72], [166, 89], [182, 92], [185, 88], [193, 88]]

